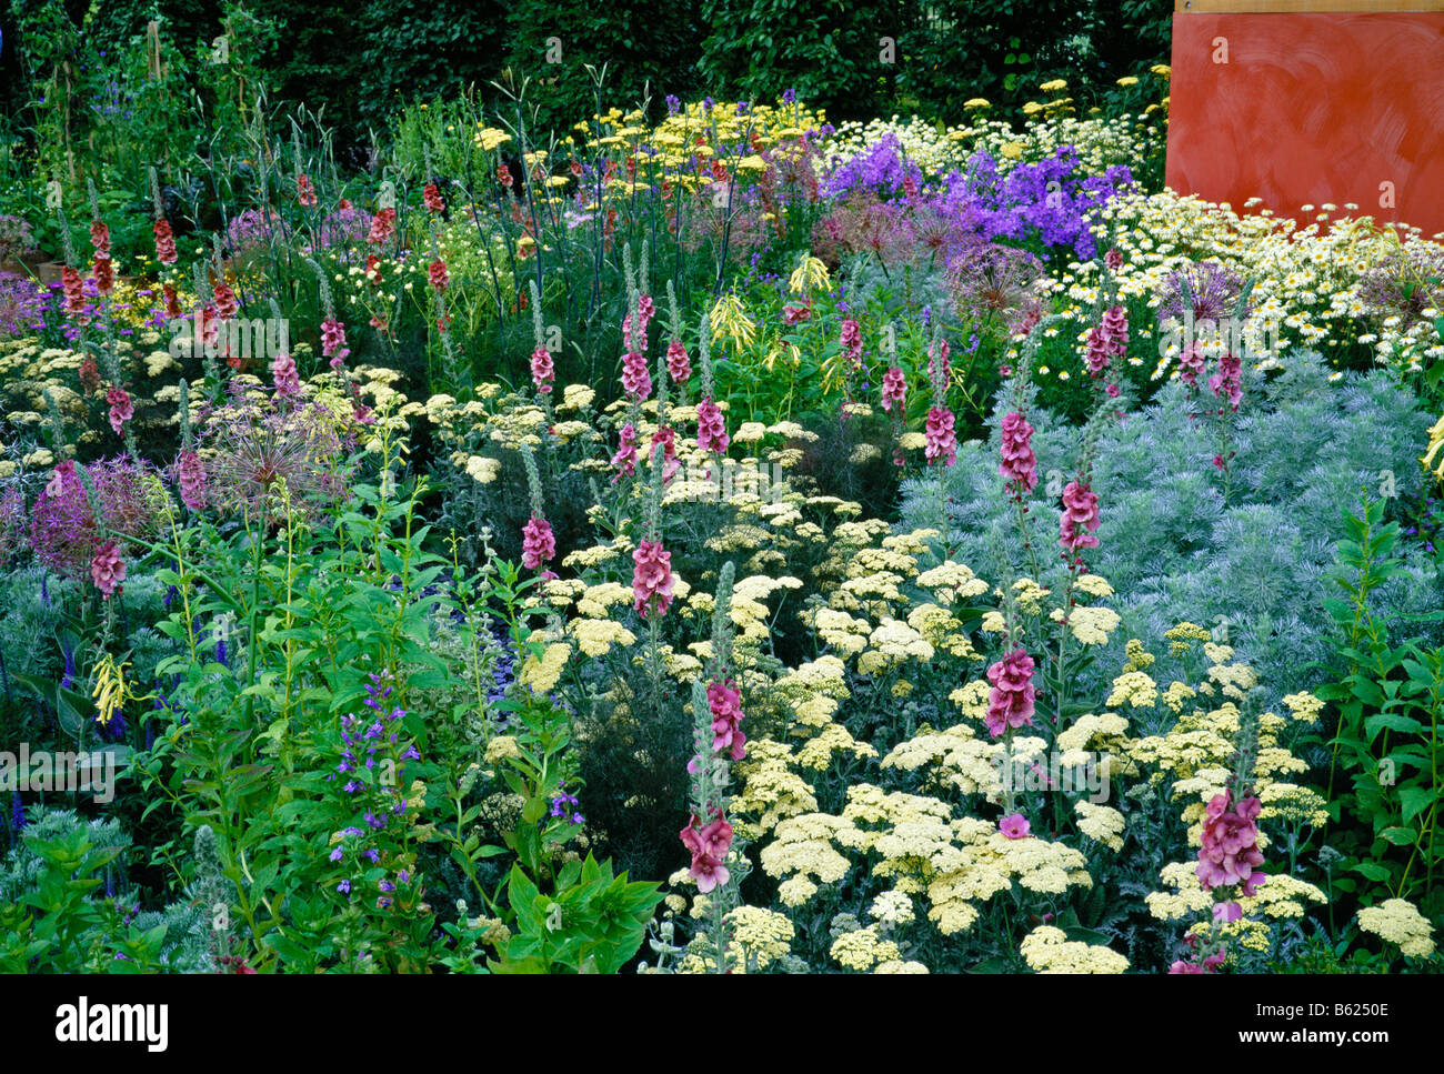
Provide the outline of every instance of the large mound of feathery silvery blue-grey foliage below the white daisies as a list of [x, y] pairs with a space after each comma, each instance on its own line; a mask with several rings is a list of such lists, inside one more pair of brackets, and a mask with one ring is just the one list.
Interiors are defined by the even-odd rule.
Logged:
[[[1213, 397], [1204, 391], [1204, 398]], [[1190, 419], [1194, 406], [1203, 404], [1190, 404], [1186, 385], [1173, 383], [1103, 435], [1093, 472], [1100, 547], [1084, 559], [1116, 590], [1108, 603], [1123, 625], [1099, 674], [1118, 667], [1128, 638], [1154, 645], [1187, 619], [1216, 631], [1226, 626], [1238, 657], [1274, 690], [1310, 689], [1317, 674], [1307, 665], [1328, 655], [1331, 626], [1321, 601], [1337, 595], [1326, 575], [1343, 533], [1341, 511], [1357, 511], [1365, 491], [1378, 498], [1385, 471], [1399, 495], [1418, 491], [1431, 416], [1385, 371], [1330, 384], [1313, 354], [1289, 355], [1287, 371], [1272, 383], [1248, 370], [1225, 507], [1214, 433], [1207, 419]], [[989, 580], [1005, 573], [999, 549], [1012, 572], [1030, 573], [998, 473], [1002, 413], [993, 414], [991, 442], [960, 445], [944, 478], [956, 557]], [[1031, 540], [1044, 580], [1056, 580], [1063, 570], [1060, 498], [1048, 497], [1050, 471], [1057, 471], [1054, 492], [1073, 479], [1079, 430], [1044, 413], [1028, 417], [1038, 456]], [[902, 492], [905, 528], [936, 524], [936, 478], [908, 481]], [[1375, 595], [1391, 618], [1444, 603], [1438, 573], [1412, 549], [1405, 556], [1408, 576]]]

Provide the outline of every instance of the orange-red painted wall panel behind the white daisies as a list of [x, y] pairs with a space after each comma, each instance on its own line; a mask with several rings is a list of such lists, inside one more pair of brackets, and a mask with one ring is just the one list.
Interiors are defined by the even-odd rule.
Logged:
[[1175, 13], [1167, 182], [1444, 232], [1444, 13]]

